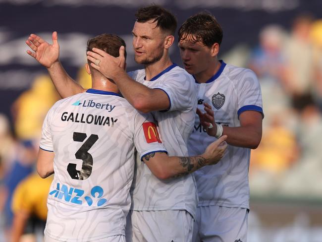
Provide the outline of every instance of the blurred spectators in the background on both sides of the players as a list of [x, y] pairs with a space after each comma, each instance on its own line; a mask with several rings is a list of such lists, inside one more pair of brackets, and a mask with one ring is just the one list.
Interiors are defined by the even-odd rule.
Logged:
[[[303, 14], [291, 29], [265, 26], [258, 46], [240, 44], [221, 57], [251, 68], [261, 83], [265, 118], [251, 154], [251, 194], [322, 198], [322, 19]], [[83, 68], [77, 79], [90, 88]], [[49, 76], [39, 76], [12, 105], [13, 128], [0, 115], [0, 212], [7, 238], [13, 235], [7, 241], [44, 227], [52, 178], [35, 176], [35, 160], [43, 120], [58, 99]]]

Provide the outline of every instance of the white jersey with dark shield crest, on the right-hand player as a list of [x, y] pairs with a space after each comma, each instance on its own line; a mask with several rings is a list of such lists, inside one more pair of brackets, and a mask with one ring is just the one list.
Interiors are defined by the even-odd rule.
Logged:
[[[263, 114], [262, 94], [255, 73], [221, 62], [220, 69], [206, 83], [197, 83], [198, 108], [212, 106], [215, 121], [229, 127], [240, 126], [244, 111]], [[196, 116], [189, 139], [189, 155], [201, 154], [216, 138], [209, 136]], [[250, 149], [228, 145], [224, 157], [213, 166], [196, 171], [198, 206], [218, 205], [249, 208], [248, 169]]]

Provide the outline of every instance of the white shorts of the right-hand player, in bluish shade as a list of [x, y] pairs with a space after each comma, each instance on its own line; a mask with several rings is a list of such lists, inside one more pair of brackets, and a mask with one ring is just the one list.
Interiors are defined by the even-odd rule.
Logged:
[[246, 242], [248, 209], [197, 207], [193, 242]]

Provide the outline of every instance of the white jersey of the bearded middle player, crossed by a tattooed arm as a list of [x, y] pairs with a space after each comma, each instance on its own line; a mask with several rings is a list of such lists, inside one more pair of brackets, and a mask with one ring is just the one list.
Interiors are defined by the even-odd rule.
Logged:
[[[187, 143], [196, 113], [195, 81], [184, 69], [172, 64], [150, 81], [145, 70], [129, 73], [133, 79], [149, 88], [162, 89], [169, 97], [170, 107], [164, 112], [152, 112], [158, 122], [161, 140], [169, 156], [188, 156]], [[161, 181], [147, 165], [137, 159], [133, 180], [132, 210], [187, 210], [195, 216], [197, 191], [193, 175]]]

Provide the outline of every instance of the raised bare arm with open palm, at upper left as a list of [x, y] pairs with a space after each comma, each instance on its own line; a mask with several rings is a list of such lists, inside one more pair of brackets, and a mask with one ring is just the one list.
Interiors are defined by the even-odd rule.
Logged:
[[26, 40], [26, 44], [32, 51], [28, 50], [27, 54], [47, 68], [48, 73], [62, 98], [84, 92], [85, 89], [67, 74], [59, 61], [57, 32], [53, 32], [52, 39], [53, 44], [51, 45], [38, 35], [31, 34], [28, 40]]

